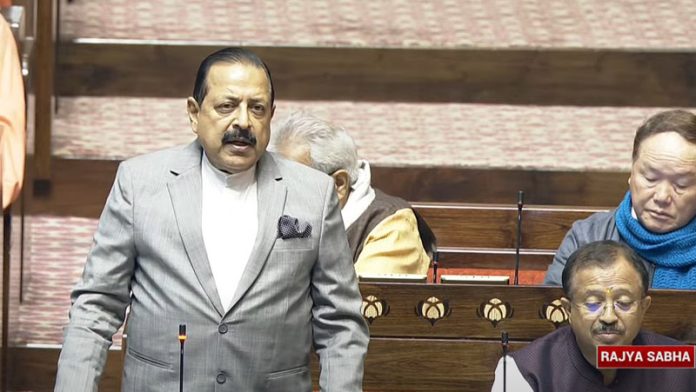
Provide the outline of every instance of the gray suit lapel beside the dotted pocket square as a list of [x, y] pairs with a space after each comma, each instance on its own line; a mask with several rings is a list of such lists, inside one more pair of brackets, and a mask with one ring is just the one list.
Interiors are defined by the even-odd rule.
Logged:
[[258, 231], [254, 248], [232, 297], [230, 310], [256, 281], [266, 264], [273, 243], [278, 235], [278, 219], [283, 215], [287, 189], [273, 156], [266, 152], [261, 156], [257, 167]]

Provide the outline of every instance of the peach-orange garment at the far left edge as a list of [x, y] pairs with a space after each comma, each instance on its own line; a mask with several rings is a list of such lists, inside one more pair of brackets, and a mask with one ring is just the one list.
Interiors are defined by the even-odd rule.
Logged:
[[14, 201], [24, 181], [26, 148], [24, 83], [12, 30], [0, 16], [0, 156], [2, 208]]

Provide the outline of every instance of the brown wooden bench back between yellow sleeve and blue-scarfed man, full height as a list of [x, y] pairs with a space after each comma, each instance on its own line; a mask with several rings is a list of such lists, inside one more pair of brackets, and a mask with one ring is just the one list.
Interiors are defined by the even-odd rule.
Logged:
[[[413, 203], [438, 240], [439, 275], [508, 275], [513, 281], [516, 205]], [[522, 209], [520, 283], [540, 284], [573, 222], [608, 208], [529, 205]], [[432, 274], [431, 274], [432, 275]], [[432, 280], [432, 279], [431, 279]]]

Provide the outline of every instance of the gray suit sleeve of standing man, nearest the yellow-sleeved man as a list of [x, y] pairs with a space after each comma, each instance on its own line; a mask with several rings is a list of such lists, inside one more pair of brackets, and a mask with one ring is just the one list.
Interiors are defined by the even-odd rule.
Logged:
[[312, 270], [314, 346], [321, 363], [319, 384], [322, 391], [362, 391], [369, 333], [360, 313], [362, 297], [333, 188], [328, 182], [318, 260]]

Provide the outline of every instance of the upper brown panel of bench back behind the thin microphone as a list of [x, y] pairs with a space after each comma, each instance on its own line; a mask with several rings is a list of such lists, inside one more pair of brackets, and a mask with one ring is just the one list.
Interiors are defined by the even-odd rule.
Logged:
[[[517, 206], [414, 203], [438, 246], [515, 248]], [[522, 248], [557, 249], [578, 219], [604, 209], [527, 206], [522, 211]]]

